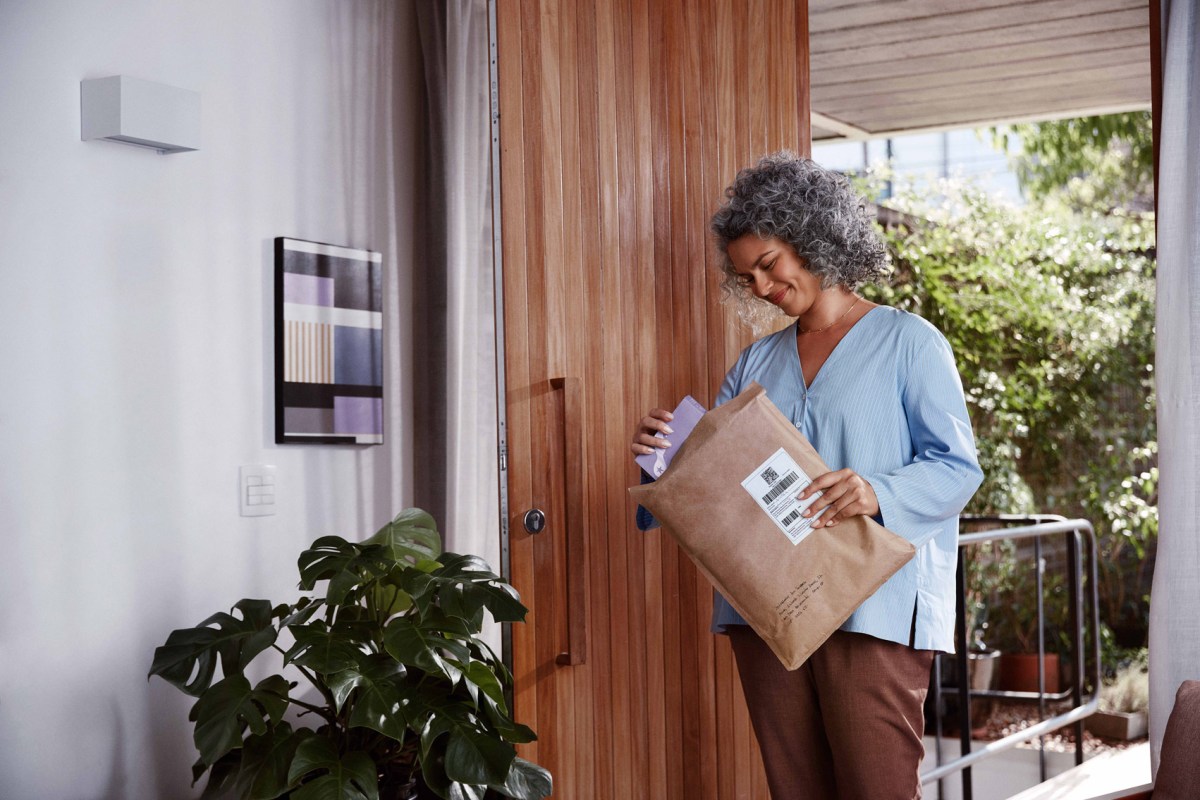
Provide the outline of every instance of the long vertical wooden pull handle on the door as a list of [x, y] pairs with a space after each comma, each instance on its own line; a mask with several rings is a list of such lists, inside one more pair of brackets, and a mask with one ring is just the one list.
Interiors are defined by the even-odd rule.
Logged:
[[556, 663], [576, 667], [588, 660], [587, 534], [583, 515], [583, 381], [551, 378], [563, 390], [563, 461], [566, 485], [566, 650]]

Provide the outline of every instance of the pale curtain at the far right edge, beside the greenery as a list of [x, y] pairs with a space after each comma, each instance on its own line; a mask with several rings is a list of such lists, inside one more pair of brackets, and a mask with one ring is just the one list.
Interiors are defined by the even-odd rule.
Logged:
[[1200, 678], [1200, 55], [1195, 0], [1162, 0], [1158, 186], [1158, 559], [1150, 607], [1150, 740]]

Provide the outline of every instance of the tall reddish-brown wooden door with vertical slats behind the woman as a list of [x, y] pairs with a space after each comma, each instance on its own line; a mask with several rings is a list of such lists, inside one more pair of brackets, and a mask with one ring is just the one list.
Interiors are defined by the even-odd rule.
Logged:
[[805, 0], [497, 0], [497, 43], [523, 754], [569, 800], [767, 798], [712, 589], [625, 489], [635, 421], [710, 404], [749, 341], [707, 225], [739, 167], [809, 151]]

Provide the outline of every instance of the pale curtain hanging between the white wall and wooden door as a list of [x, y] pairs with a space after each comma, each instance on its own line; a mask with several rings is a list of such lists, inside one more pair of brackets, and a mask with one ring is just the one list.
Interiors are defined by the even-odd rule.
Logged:
[[416, 504], [499, 571], [486, 0], [420, 0], [424, 258], [414, 265]]

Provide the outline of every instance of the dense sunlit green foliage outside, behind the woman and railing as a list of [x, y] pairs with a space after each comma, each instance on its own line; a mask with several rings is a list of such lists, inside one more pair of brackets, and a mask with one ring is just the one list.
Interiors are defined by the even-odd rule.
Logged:
[[[871, 297], [920, 314], [954, 348], [985, 473], [967, 511], [1096, 525], [1111, 667], [1120, 645], [1144, 644], [1158, 470], [1153, 217], [1110, 203], [1105, 184], [1116, 149], [1144, 137], [1106, 125], [1088, 128], [1104, 134], [1084, 148], [1090, 161], [1060, 158], [1086, 138], [1078, 125], [1026, 138], [1037, 158], [1026, 157], [1022, 207], [955, 181], [889, 199], [907, 222], [886, 230], [895, 270]], [[1141, 173], [1123, 180], [1127, 197], [1144, 191]], [[988, 624], [986, 644], [1022, 649], [1036, 575], [1002, 565], [1010, 543], [992, 551], [968, 554], [970, 621]], [[1066, 591], [1046, 578], [1048, 628], [1061, 636]]]

